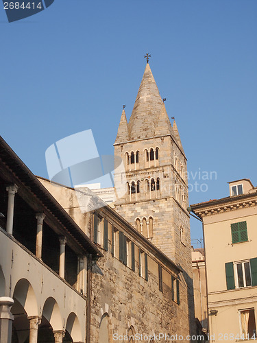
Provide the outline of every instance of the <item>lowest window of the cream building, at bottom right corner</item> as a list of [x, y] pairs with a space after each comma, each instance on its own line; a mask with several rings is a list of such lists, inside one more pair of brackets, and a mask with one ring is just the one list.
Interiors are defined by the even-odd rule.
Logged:
[[[256, 322], [254, 309], [243, 309], [239, 311], [240, 331], [242, 338], [256, 339]], [[242, 339], [241, 338], [241, 339]]]

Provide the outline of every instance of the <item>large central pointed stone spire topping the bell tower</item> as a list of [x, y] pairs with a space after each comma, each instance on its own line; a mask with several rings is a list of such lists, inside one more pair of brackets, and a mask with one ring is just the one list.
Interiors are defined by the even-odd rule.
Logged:
[[130, 140], [154, 137], [162, 108], [162, 98], [147, 63], [128, 123]]

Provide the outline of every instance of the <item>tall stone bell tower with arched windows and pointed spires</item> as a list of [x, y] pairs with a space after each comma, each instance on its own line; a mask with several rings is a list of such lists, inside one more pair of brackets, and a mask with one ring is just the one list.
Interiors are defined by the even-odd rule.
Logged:
[[128, 123], [123, 108], [114, 155], [125, 166], [125, 171], [114, 174], [115, 189], [126, 189], [115, 209], [182, 268], [184, 311], [193, 322], [186, 156], [148, 61]]

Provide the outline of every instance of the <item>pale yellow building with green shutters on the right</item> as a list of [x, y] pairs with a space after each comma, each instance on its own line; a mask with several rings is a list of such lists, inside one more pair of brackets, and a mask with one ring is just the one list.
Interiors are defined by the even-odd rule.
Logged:
[[191, 205], [204, 222], [210, 342], [256, 339], [257, 189], [229, 182], [230, 196]]

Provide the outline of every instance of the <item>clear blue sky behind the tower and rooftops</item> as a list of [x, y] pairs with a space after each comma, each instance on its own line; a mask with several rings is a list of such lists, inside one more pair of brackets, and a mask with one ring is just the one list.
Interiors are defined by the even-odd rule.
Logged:
[[92, 129], [112, 154], [148, 51], [188, 171], [217, 172], [190, 203], [228, 196], [230, 180], [256, 186], [256, 18], [256, 0], [55, 0], [14, 23], [1, 8], [1, 136], [44, 177], [45, 150], [70, 134]]

